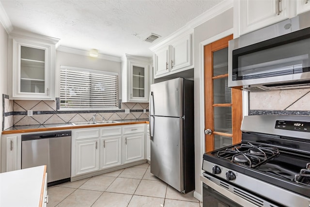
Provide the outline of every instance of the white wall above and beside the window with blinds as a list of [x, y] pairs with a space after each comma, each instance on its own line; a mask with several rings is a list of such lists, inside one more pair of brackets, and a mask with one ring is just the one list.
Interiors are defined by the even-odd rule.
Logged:
[[59, 97], [59, 71], [60, 66], [71, 66], [71, 67], [80, 67], [80, 68], [87, 68], [87, 69], [93, 69], [93, 70], [102, 70], [102, 71], [108, 71], [108, 72], [114, 72], [118, 73], [118, 81], [119, 81], [119, 97], [122, 97], [122, 87], [121, 87], [121, 63], [120, 62], [114, 62], [109, 60], [103, 60], [99, 58], [92, 58], [89, 56], [84, 55], [77, 55], [73, 53], [68, 52], [62, 52], [62, 51], [56, 51], [56, 71], [55, 71], [55, 84], [56, 84], [56, 97]]

